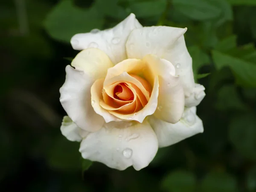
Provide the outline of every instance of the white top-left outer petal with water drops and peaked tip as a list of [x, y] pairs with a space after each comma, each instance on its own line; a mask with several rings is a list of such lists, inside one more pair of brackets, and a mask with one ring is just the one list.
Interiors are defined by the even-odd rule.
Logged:
[[87, 49], [88, 47], [99, 48], [109, 56], [114, 64], [117, 64], [127, 58], [125, 43], [128, 35], [133, 29], [140, 27], [142, 25], [135, 18], [135, 15], [131, 14], [111, 29], [76, 34], [71, 38], [71, 44], [76, 50]]

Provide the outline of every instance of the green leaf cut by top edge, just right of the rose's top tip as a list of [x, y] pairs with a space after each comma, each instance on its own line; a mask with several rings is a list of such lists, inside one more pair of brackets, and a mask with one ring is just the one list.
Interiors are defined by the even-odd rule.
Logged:
[[158, 17], [163, 14], [167, 6], [167, 0], [151, 0], [134, 2], [129, 6], [136, 17]]

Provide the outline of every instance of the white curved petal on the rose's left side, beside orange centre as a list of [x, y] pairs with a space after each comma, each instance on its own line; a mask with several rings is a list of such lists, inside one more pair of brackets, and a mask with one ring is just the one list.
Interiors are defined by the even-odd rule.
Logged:
[[70, 119], [85, 131], [98, 131], [105, 120], [91, 105], [90, 88], [93, 80], [83, 71], [66, 67], [66, 81], [60, 88], [60, 102]]

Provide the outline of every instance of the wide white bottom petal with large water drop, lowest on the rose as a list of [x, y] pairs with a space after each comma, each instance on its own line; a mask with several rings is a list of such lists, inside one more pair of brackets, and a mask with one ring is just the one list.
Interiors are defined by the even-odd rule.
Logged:
[[99, 161], [114, 169], [133, 166], [140, 170], [153, 160], [157, 149], [157, 137], [144, 121], [106, 123], [81, 142], [79, 151], [84, 159]]

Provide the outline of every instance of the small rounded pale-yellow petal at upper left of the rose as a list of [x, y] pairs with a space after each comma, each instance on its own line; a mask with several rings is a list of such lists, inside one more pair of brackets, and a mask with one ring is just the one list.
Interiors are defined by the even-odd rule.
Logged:
[[100, 49], [88, 48], [79, 52], [71, 65], [77, 70], [83, 70], [94, 79], [105, 78], [108, 68], [113, 67], [105, 52]]

